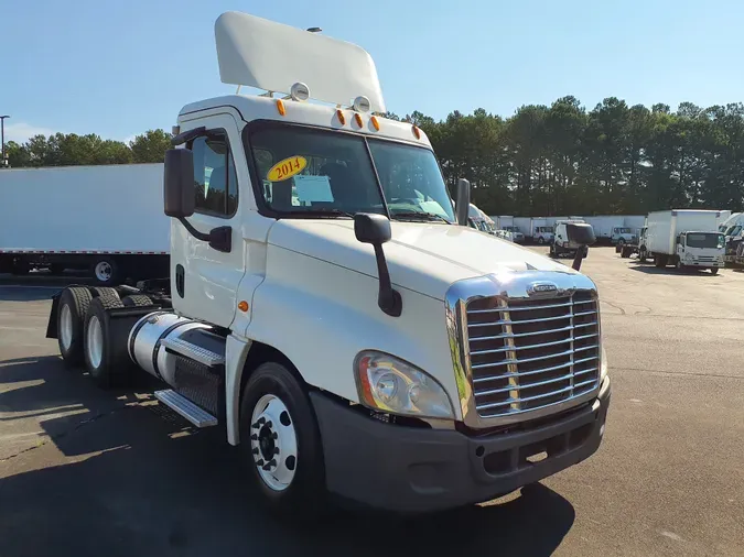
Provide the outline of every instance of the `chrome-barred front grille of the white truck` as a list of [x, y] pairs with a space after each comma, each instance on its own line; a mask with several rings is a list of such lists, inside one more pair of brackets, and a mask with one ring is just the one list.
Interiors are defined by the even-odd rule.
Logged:
[[599, 386], [594, 291], [541, 299], [475, 298], [466, 306], [466, 318], [481, 417], [544, 408]]

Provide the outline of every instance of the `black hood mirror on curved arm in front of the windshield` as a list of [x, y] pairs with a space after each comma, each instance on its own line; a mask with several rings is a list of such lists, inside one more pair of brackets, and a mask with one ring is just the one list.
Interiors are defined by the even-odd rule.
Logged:
[[382, 244], [390, 241], [390, 221], [384, 215], [357, 212], [354, 215], [354, 233], [362, 243], [371, 243], [375, 248], [377, 276], [380, 283], [377, 305], [387, 315], [399, 317], [403, 310], [403, 299], [399, 292], [392, 290], [388, 263], [382, 251]]

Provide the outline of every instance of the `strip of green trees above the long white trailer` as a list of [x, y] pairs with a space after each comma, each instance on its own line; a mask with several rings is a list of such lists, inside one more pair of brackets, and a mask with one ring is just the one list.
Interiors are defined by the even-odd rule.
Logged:
[[77, 166], [87, 164], [162, 163], [171, 146], [171, 134], [149, 130], [129, 143], [104, 140], [89, 133], [55, 133], [48, 138], [34, 135], [25, 143], [6, 143], [12, 168], [26, 166]]

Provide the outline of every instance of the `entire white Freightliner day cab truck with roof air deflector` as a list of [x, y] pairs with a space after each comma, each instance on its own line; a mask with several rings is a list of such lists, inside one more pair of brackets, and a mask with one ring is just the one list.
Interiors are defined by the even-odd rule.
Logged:
[[170, 277], [55, 296], [64, 360], [160, 378], [279, 510], [446, 509], [596, 451], [594, 283], [467, 227], [470, 185], [455, 210], [423, 131], [377, 116], [364, 50], [236, 12], [215, 34], [222, 80], [270, 92], [183, 108]]

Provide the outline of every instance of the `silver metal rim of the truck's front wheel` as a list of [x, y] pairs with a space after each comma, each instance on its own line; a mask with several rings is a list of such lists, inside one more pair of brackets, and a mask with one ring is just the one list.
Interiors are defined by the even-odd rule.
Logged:
[[290, 487], [298, 465], [294, 418], [273, 394], [265, 394], [250, 418], [250, 450], [258, 474], [273, 491]]

